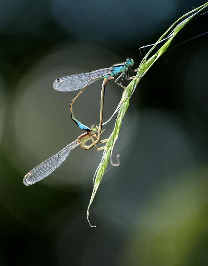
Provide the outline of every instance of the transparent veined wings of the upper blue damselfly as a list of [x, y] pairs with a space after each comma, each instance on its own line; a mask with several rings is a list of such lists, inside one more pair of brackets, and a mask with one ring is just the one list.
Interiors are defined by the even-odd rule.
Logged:
[[[111, 70], [111, 67], [103, 68], [88, 73], [75, 74], [56, 79], [53, 82], [53, 89], [60, 91], [81, 90], [89, 82], [90, 79], [96, 79], [103, 77], [104, 75], [109, 75]], [[90, 82], [89, 84], [93, 83], [94, 81]]]

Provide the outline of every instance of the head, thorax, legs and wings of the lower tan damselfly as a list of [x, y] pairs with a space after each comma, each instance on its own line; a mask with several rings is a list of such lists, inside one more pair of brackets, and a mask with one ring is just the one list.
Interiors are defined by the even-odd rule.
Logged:
[[[107, 142], [108, 139], [105, 139], [103, 141], [99, 141], [96, 134], [98, 133], [98, 126], [92, 126], [88, 132], [80, 135], [75, 141], [68, 144], [65, 148], [63, 148], [61, 151], [50, 157], [49, 159], [43, 161], [41, 164], [33, 168], [31, 171], [27, 173], [27, 175], [24, 176], [23, 183], [26, 186], [33, 185], [37, 183], [38, 181], [42, 180], [46, 176], [50, 175], [54, 170], [60, 166], [63, 161], [68, 157], [69, 153], [77, 146], [80, 145], [80, 148], [84, 150], [89, 150], [93, 146], [95, 146], [97, 151], [103, 150], [105, 146], [98, 148], [96, 144], [98, 142], [104, 143]], [[102, 133], [102, 132], [101, 132]], [[94, 139], [95, 138], [95, 139]], [[85, 143], [87, 141], [91, 140], [92, 144], [89, 146], [86, 146]]]

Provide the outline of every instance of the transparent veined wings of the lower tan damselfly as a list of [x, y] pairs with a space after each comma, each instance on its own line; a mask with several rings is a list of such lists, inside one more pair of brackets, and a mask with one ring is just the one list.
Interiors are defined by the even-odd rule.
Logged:
[[78, 145], [79, 143], [77, 140], [73, 141], [61, 151], [33, 168], [27, 173], [27, 175], [24, 176], [23, 183], [26, 186], [30, 186], [50, 175], [54, 170], [56, 170], [56, 168], [58, 168], [58, 166], [63, 163], [63, 161], [68, 157], [69, 153]]

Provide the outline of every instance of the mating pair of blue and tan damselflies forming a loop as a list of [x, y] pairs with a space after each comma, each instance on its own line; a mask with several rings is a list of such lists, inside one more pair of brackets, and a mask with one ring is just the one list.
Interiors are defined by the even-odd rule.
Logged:
[[[74, 91], [74, 90], [80, 90], [78, 95], [71, 101], [70, 103], [70, 109], [71, 109], [71, 119], [79, 126], [79, 128], [87, 131], [86, 133], [80, 135], [77, 140], [73, 141], [72, 143], [68, 144], [65, 148], [63, 148], [61, 151], [50, 157], [49, 159], [43, 161], [41, 164], [33, 168], [31, 171], [29, 171], [23, 179], [23, 183], [26, 186], [33, 185], [34, 183], [42, 180], [49, 174], [51, 174], [55, 169], [57, 169], [62, 162], [68, 157], [69, 153], [76, 147], [79, 146], [85, 150], [89, 150], [91, 147], [95, 146], [96, 150], [103, 150], [105, 146], [101, 148], [97, 148], [96, 144], [98, 142], [104, 143], [108, 141], [108, 139], [101, 141], [100, 135], [102, 133], [102, 119], [103, 119], [103, 110], [104, 110], [104, 95], [105, 95], [105, 87], [106, 84], [114, 79], [114, 75], [119, 75], [119, 77], [115, 80], [116, 84], [121, 86], [124, 89], [127, 89], [123, 84], [123, 79], [125, 76], [125, 79], [133, 79], [134, 77], [129, 77], [129, 71], [135, 72], [138, 69], [132, 70], [131, 66], [133, 66], [134, 60], [133, 59], [127, 59], [126, 62], [122, 64], [115, 64], [112, 67], [99, 69], [95, 71], [91, 71], [88, 73], [82, 73], [82, 74], [75, 74], [66, 76], [63, 78], [56, 79], [53, 82], [53, 88], [55, 90], [59, 91]], [[74, 118], [74, 113], [72, 109], [72, 105], [74, 101], [79, 97], [79, 95], [86, 89], [86, 87], [89, 84], [92, 84], [96, 80], [104, 79], [101, 89], [101, 100], [100, 100], [100, 120], [99, 120], [99, 127], [98, 126], [92, 126], [89, 128], [88, 126], [85, 126], [81, 122], [79, 122], [77, 119]], [[119, 79], [121, 80], [119, 82]], [[97, 134], [97, 135], [96, 135]], [[85, 143], [87, 141], [91, 140], [92, 144], [89, 146], [86, 146]]]

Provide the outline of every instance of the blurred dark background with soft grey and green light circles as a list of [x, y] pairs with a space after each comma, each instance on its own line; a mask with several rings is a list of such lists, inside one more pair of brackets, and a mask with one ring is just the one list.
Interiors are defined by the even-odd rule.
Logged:
[[[56, 78], [128, 57], [138, 67], [139, 47], [202, 4], [1, 0], [1, 266], [206, 264], [207, 34], [168, 50], [139, 83], [114, 148], [121, 164], [108, 166], [90, 209], [96, 228], [86, 209], [102, 152], [77, 147], [45, 180], [22, 182], [83, 133], [70, 120], [77, 91], [53, 90]], [[170, 48], [206, 32], [207, 18], [191, 20]], [[99, 121], [101, 83], [74, 104], [86, 125]], [[108, 84], [104, 121], [121, 93]]]

